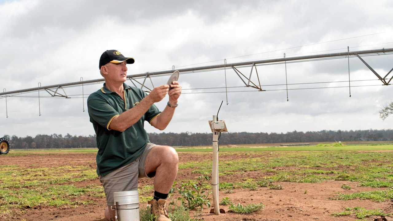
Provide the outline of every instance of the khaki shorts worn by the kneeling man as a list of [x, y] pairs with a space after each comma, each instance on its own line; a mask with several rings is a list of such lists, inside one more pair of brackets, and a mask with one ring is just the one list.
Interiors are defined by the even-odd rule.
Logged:
[[145, 171], [147, 155], [155, 146], [156, 144], [147, 143], [143, 153], [134, 162], [100, 177], [99, 181], [104, 187], [109, 206], [114, 205], [114, 192], [138, 190], [138, 178], [154, 177], [156, 175], [155, 173], [147, 175]]

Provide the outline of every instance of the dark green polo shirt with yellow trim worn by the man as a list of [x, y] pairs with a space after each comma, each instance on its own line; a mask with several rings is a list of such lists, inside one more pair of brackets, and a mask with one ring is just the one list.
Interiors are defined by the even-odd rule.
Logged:
[[144, 129], [145, 120], [149, 123], [161, 112], [156, 105], [152, 105], [138, 122], [124, 132], [109, 129], [114, 117], [131, 109], [147, 96], [136, 87], [129, 87], [123, 83], [124, 100], [116, 92], [102, 87], [90, 94], [87, 106], [90, 122], [93, 123], [97, 134], [97, 174], [102, 177], [115, 169], [121, 168], [138, 158], [149, 141]]

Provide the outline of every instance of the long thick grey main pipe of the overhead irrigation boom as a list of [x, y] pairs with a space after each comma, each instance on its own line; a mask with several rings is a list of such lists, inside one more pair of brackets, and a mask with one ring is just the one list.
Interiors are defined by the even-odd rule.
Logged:
[[[243, 62], [228, 63], [228, 64], [216, 64], [216, 65], [199, 66], [199, 67], [193, 67], [193, 68], [183, 68], [183, 69], [177, 69], [177, 70], [179, 72], [195, 72], [195, 71], [200, 71], [200, 70], [213, 70], [213, 69], [217, 69], [217, 68], [225, 68], [228, 66], [252, 65], [253, 63], [255, 63], [255, 64], [279, 63], [279, 62], [287, 62], [288, 63], [288, 61], [299, 61], [299, 60], [305, 60], [305, 59], [320, 59], [320, 58], [341, 57], [341, 56], [345, 57], [345, 56], [356, 55], [356, 54], [364, 55], [364, 54], [387, 53], [387, 52], [393, 52], [393, 48], [362, 50], [362, 51], [354, 51], [354, 52], [327, 53], [327, 54], [306, 55], [306, 56], [298, 56], [298, 57], [264, 59], [264, 60], [256, 60], [256, 61], [243, 61]], [[146, 74], [146, 72], [144, 72], [142, 74], [128, 75], [127, 78], [129, 78], [129, 77], [146, 77], [146, 76], [149, 77], [149, 76], [155, 76], [155, 75], [170, 74], [172, 72], [173, 72], [173, 70], [148, 72], [147, 74]], [[100, 78], [100, 79], [93, 79], [93, 80], [87, 80], [87, 81], [76, 81], [76, 82], [63, 83], [63, 84], [57, 84], [57, 85], [48, 85], [48, 86], [44, 86], [44, 87], [27, 88], [27, 89], [22, 89], [22, 90], [12, 90], [12, 91], [8, 91], [8, 92], [1, 92], [0, 95], [37, 91], [40, 88], [58, 88], [58, 87], [65, 87], [65, 86], [71, 86], [71, 85], [82, 85], [82, 84], [95, 83], [95, 82], [100, 82], [100, 81], [105, 81], [105, 79]]]

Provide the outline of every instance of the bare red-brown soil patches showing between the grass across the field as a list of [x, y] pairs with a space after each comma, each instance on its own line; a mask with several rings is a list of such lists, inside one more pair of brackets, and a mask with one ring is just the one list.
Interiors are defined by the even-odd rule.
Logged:
[[[303, 153], [305, 154], [305, 153]], [[257, 161], [268, 161], [275, 157], [285, 157], [286, 153], [220, 153], [220, 162], [234, 162], [237, 160], [252, 160]], [[388, 156], [393, 156], [389, 153]], [[211, 158], [211, 153], [179, 153], [180, 163], [186, 162], [206, 162]], [[389, 164], [390, 168], [393, 168], [392, 158], [387, 159], [370, 159], [372, 163], [381, 162], [382, 164]], [[9, 165], [18, 169], [40, 169], [40, 168], [84, 168], [95, 170], [95, 153], [27, 153], [27, 154], [13, 154], [10, 152], [8, 155], [0, 156], [1, 165]], [[211, 162], [211, 161], [210, 161]], [[208, 164], [208, 163], [207, 163]], [[206, 167], [211, 165], [206, 165]], [[272, 167], [268, 168], [268, 171], [245, 169], [242, 173], [227, 173], [220, 174], [220, 182], [245, 182], [246, 178], [253, 180], [264, 180], [266, 177], [275, 174], [275, 171], [293, 171], [298, 169], [296, 166], [283, 166], [283, 167]], [[312, 167], [310, 167], [313, 169]], [[331, 167], [329, 167], [331, 168]], [[325, 167], [318, 167], [318, 169], [329, 169]], [[314, 168], [316, 169], [316, 168]], [[336, 170], [350, 171], [350, 168], [345, 168], [342, 165], [336, 165]], [[4, 168], [3, 170], [7, 170]], [[225, 172], [220, 170], [220, 172]], [[388, 171], [391, 174], [392, 171]], [[59, 174], [60, 175], [60, 174]], [[332, 172], [333, 175], [333, 172]], [[176, 177], [178, 183], [182, 180], [195, 180], [198, 173], [195, 172], [195, 168], [192, 166], [181, 166]], [[0, 180], [0, 185], [4, 184]], [[139, 186], [152, 186], [153, 179], [140, 179]], [[321, 182], [274, 182], [275, 185], [281, 185], [284, 187], [283, 190], [274, 190], [268, 187], [253, 188], [233, 188], [232, 191], [220, 190], [220, 201], [225, 197], [229, 197], [235, 204], [250, 204], [250, 203], [263, 203], [265, 206], [262, 210], [252, 213], [250, 215], [235, 214], [228, 212], [228, 206], [220, 206], [226, 213], [215, 215], [209, 213], [210, 208], [204, 208], [202, 212], [195, 210], [191, 211], [191, 214], [197, 214], [199, 219], [206, 221], [300, 221], [300, 220], [318, 220], [318, 221], [349, 221], [355, 220], [353, 216], [333, 216], [332, 214], [337, 212], [345, 211], [347, 207], [362, 207], [367, 209], [382, 210], [385, 213], [393, 212], [393, 199], [389, 199], [383, 202], [375, 202], [369, 199], [351, 199], [351, 200], [332, 200], [338, 193], [351, 194], [357, 192], [370, 192], [376, 190], [387, 190], [387, 187], [373, 188], [368, 186], [360, 186], [359, 182], [349, 180], [322, 180]], [[351, 189], [343, 189], [343, 184], [351, 186]], [[85, 179], [82, 181], [70, 180], [68, 182], [50, 184], [53, 186], [58, 185], [73, 185], [76, 187], [83, 186], [100, 186], [98, 178]], [[1, 186], [0, 186], [1, 187]], [[10, 189], [17, 189], [9, 187]], [[26, 187], [25, 187], [26, 188]], [[29, 188], [29, 187], [27, 187]], [[31, 187], [30, 187], [31, 188]], [[1, 188], [0, 188], [1, 190]], [[142, 193], [144, 197], [151, 197], [152, 191], [145, 191]], [[174, 193], [173, 199], [176, 199], [179, 195]], [[4, 197], [3, 197], [4, 198]], [[2, 220], [23, 220], [23, 221], [41, 221], [41, 220], [59, 220], [59, 221], [105, 221], [103, 211], [105, 209], [106, 201], [105, 197], [92, 196], [92, 195], [79, 195], [72, 198], [72, 201], [88, 201], [90, 203], [77, 204], [77, 205], [62, 205], [62, 206], [32, 206], [22, 207], [19, 212], [13, 212], [11, 206], [11, 212], [3, 214]], [[2, 195], [0, 195], [0, 204], [2, 201]], [[140, 207], [146, 206], [146, 203], [140, 203]], [[15, 207], [17, 208], [17, 207]], [[368, 217], [365, 220], [373, 220], [377, 217]], [[389, 217], [387, 217], [389, 218]], [[389, 218], [390, 219], [390, 218]]]

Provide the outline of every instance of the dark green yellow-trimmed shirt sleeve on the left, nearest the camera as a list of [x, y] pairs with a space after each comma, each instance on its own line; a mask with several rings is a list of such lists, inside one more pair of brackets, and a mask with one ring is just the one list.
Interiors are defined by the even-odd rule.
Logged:
[[[89, 97], [87, 100], [87, 107], [90, 116], [90, 121], [95, 121], [101, 127], [109, 129], [110, 122], [112, 122], [113, 118], [119, 116], [119, 112], [117, 112], [105, 98], [101, 98], [99, 96]], [[94, 122], [92, 122], [94, 123]]]

